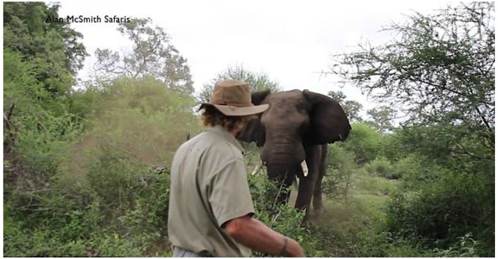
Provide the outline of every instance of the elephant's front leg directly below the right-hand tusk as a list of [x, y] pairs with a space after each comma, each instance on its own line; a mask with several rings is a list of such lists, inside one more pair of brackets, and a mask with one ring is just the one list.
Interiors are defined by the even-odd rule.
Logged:
[[308, 176], [299, 175], [299, 192], [296, 199], [296, 209], [306, 210], [309, 213], [311, 199], [318, 178], [318, 165], [320, 162], [321, 147], [319, 145], [306, 149], [306, 164], [308, 165]]

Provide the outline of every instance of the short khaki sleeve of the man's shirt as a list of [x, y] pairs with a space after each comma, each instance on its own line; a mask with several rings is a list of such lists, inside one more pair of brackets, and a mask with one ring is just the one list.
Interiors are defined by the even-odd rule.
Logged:
[[252, 197], [243, 160], [234, 159], [217, 170], [209, 181], [209, 203], [218, 226], [254, 214]]

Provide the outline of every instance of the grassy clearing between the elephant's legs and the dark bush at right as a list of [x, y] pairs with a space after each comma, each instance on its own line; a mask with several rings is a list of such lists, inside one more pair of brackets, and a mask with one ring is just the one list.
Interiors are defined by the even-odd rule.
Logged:
[[[266, 175], [260, 172], [259, 177]], [[319, 240], [318, 249], [326, 257], [434, 257], [432, 251], [413, 246], [407, 240], [392, 239], [385, 232], [385, 207], [398, 184], [360, 168], [352, 175], [347, 202], [323, 195], [321, 214], [316, 215], [313, 210], [310, 213], [309, 228]], [[296, 197], [297, 188], [293, 186], [289, 203], [293, 205]]]

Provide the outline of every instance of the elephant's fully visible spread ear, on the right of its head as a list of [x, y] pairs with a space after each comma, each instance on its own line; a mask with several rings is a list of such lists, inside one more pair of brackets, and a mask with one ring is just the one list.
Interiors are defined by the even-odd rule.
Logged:
[[311, 106], [310, 127], [306, 140], [314, 144], [345, 140], [351, 125], [341, 105], [328, 96], [308, 90], [304, 90], [303, 95]]

